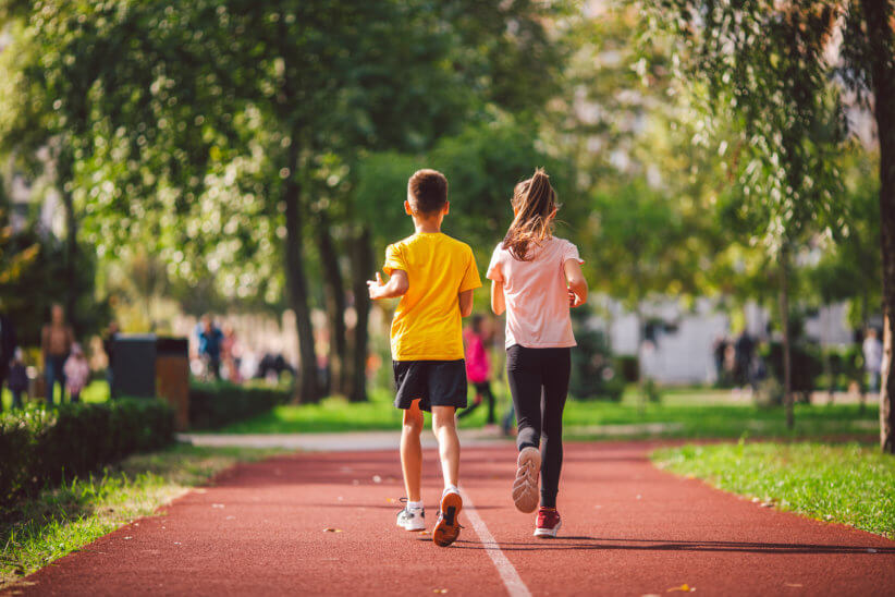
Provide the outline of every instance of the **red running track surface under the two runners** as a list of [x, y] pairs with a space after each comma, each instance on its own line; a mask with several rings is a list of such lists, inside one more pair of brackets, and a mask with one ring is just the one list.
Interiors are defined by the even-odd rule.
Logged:
[[[676, 595], [669, 589], [684, 584], [700, 595], [892, 595], [895, 541], [674, 477], [649, 463], [651, 447], [567, 444], [553, 540], [531, 537], [534, 515], [513, 509], [515, 450], [466, 449], [461, 479], [475, 510], [446, 549], [394, 526], [396, 451], [241, 465], [12, 592], [506, 595], [503, 578], [517, 574], [513, 595]], [[441, 494], [432, 451], [425, 470], [431, 528]], [[482, 543], [482, 524], [495, 544]]]

